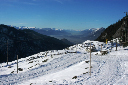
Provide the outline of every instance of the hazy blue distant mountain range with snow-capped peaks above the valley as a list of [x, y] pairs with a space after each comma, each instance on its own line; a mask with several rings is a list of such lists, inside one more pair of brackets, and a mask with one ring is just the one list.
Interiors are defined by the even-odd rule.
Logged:
[[55, 37], [58, 39], [67, 39], [68, 41], [78, 44], [86, 40], [95, 40], [105, 30], [105, 28], [91, 28], [85, 30], [65, 30], [56, 28], [36, 28], [36, 27], [15, 27], [17, 29], [30, 29], [40, 34]]

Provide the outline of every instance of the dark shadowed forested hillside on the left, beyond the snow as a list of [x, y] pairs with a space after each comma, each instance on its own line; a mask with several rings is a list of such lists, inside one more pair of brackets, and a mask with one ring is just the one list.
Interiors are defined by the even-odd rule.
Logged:
[[[7, 44], [8, 42], [8, 44]], [[0, 25], [0, 63], [7, 61], [7, 46], [9, 61], [25, 58], [29, 55], [47, 50], [59, 50], [68, 47], [63, 41], [39, 34], [29, 29], [15, 29]]]

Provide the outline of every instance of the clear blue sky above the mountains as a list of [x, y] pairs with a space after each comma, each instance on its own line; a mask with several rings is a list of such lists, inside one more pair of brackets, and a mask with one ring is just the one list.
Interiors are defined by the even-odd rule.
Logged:
[[108, 27], [125, 16], [128, 0], [0, 0], [0, 24], [37, 28]]

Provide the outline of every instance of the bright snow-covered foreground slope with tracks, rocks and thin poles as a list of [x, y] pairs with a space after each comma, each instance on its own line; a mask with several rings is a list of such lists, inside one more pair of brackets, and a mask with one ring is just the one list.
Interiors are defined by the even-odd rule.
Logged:
[[[90, 76], [90, 45], [91, 76]], [[105, 55], [102, 51], [107, 51]], [[85, 41], [63, 50], [50, 50], [0, 64], [0, 85], [127, 85], [128, 47]]]

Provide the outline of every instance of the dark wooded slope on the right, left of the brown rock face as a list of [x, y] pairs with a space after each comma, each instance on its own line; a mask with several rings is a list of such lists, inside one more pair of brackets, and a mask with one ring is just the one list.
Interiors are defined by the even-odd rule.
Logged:
[[102, 41], [105, 42], [106, 39], [112, 40], [112, 36], [116, 33], [116, 31], [121, 27], [122, 23], [124, 21], [124, 17], [121, 20], [118, 20], [118, 22], [111, 24], [108, 26], [101, 35], [96, 39], [96, 41]]

